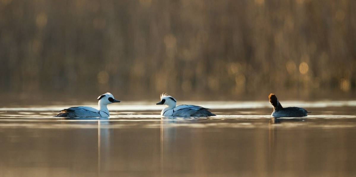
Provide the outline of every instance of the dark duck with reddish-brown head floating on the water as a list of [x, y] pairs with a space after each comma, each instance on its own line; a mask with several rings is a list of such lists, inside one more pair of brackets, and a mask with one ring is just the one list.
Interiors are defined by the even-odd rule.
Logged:
[[307, 116], [308, 112], [306, 109], [304, 108], [298, 108], [298, 107], [288, 107], [288, 108], [283, 108], [283, 106], [281, 105], [281, 103], [279, 103], [276, 95], [274, 94], [269, 94], [268, 96], [269, 98], [269, 103], [272, 104], [273, 106], [273, 113], [271, 114], [271, 116], [273, 117], [304, 117]]

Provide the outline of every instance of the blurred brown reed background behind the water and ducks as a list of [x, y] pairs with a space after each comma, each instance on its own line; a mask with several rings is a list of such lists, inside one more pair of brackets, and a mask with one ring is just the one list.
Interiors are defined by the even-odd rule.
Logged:
[[0, 0], [0, 94], [354, 99], [355, 9], [355, 0]]

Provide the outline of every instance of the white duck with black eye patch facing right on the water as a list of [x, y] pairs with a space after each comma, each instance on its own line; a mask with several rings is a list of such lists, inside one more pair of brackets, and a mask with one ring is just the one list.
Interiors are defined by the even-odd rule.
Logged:
[[109, 117], [110, 113], [107, 105], [120, 103], [111, 93], [105, 93], [98, 97], [99, 110], [88, 106], [78, 106], [61, 110], [55, 117]]

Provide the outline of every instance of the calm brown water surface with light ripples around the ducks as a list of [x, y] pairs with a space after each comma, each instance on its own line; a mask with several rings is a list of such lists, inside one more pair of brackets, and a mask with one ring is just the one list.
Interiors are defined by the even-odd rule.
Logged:
[[182, 104], [218, 116], [161, 118], [155, 102], [109, 105], [110, 119], [0, 107], [0, 176], [356, 176], [356, 101], [283, 101], [313, 111], [303, 119], [272, 119], [268, 101]]

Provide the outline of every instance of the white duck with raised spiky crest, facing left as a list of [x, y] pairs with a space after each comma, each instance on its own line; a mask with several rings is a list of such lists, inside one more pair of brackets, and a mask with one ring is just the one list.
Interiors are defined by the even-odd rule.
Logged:
[[196, 105], [179, 105], [176, 106], [177, 100], [167, 94], [161, 94], [159, 104], [167, 105], [161, 111], [162, 116], [177, 116], [177, 117], [208, 117], [215, 116], [208, 108], [203, 108]]

